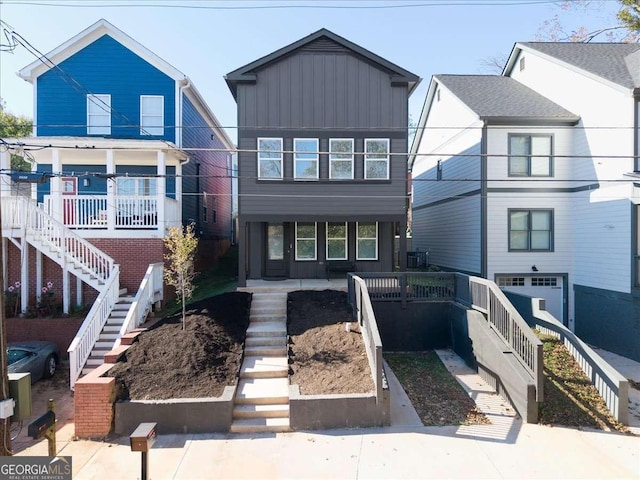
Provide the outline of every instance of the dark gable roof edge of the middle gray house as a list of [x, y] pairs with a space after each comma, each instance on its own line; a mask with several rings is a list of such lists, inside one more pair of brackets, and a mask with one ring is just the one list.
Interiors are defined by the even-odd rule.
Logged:
[[311, 35], [307, 35], [306, 37], [301, 38], [297, 42], [293, 42], [292, 44], [287, 45], [286, 47], [282, 47], [279, 50], [276, 50], [275, 52], [270, 53], [269, 55], [265, 55], [264, 57], [259, 58], [258, 60], [255, 60], [251, 63], [246, 64], [243, 67], [240, 67], [232, 72], [227, 73], [227, 75], [225, 75], [225, 80], [227, 81], [227, 85], [229, 86], [229, 89], [231, 90], [233, 97], [236, 98], [238, 83], [255, 82], [256, 72], [259, 69], [271, 63], [277, 62], [283, 57], [290, 55], [295, 50], [301, 47], [304, 47], [306, 45], [309, 45], [310, 43], [315, 42], [321, 38], [327, 38], [337, 43], [338, 45], [352, 51], [356, 55], [359, 55], [360, 57], [364, 58], [368, 62], [375, 64], [376, 66], [378, 66], [378, 68], [389, 71], [389, 74], [391, 75], [392, 81], [394, 83], [400, 83], [400, 84], [406, 83], [408, 85], [409, 95], [411, 95], [413, 90], [418, 86], [418, 83], [420, 83], [420, 77], [418, 77], [417, 75], [409, 72], [408, 70], [405, 70], [404, 68], [399, 67], [395, 63], [391, 63], [390, 61], [385, 60], [384, 58], [376, 55], [373, 52], [370, 52], [365, 48], [362, 48], [359, 45], [356, 45], [353, 42], [350, 42], [349, 40], [341, 37], [340, 35], [336, 35], [330, 30], [327, 30], [326, 28], [322, 28], [317, 32], [312, 33]]

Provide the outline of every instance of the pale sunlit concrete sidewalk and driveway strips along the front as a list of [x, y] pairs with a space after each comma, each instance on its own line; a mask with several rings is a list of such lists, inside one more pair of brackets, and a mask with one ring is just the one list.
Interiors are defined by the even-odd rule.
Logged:
[[[640, 437], [524, 424], [447, 352], [450, 369], [492, 425], [423, 427], [393, 376], [391, 427], [259, 435], [161, 435], [149, 453], [159, 479], [640, 478]], [[390, 372], [390, 370], [388, 370]], [[140, 478], [128, 437], [60, 441], [77, 479]], [[20, 455], [46, 455], [40, 442]]]

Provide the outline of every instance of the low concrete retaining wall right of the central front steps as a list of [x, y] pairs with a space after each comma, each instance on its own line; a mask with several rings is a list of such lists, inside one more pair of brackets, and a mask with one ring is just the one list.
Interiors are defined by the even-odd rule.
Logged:
[[348, 395], [301, 395], [298, 385], [289, 386], [292, 430], [382, 427], [390, 424], [389, 389], [376, 403], [375, 392]]

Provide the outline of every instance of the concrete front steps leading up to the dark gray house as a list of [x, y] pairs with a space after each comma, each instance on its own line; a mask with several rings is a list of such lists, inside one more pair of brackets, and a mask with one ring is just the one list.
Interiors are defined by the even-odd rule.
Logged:
[[287, 294], [254, 293], [231, 431], [289, 431]]

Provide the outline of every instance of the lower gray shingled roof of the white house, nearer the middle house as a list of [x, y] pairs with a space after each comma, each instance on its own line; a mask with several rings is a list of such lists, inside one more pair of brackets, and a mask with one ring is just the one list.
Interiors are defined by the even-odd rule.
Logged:
[[580, 117], [511, 77], [436, 75], [481, 120], [489, 122], [576, 123]]

